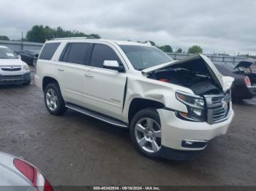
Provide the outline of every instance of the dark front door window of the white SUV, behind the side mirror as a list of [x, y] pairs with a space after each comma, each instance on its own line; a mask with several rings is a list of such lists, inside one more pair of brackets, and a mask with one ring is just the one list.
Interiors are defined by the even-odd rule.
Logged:
[[103, 68], [104, 61], [121, 61], [110, 47], [105, 44], [94, 44], [94, 50], [91, 55], [91, 66]]

